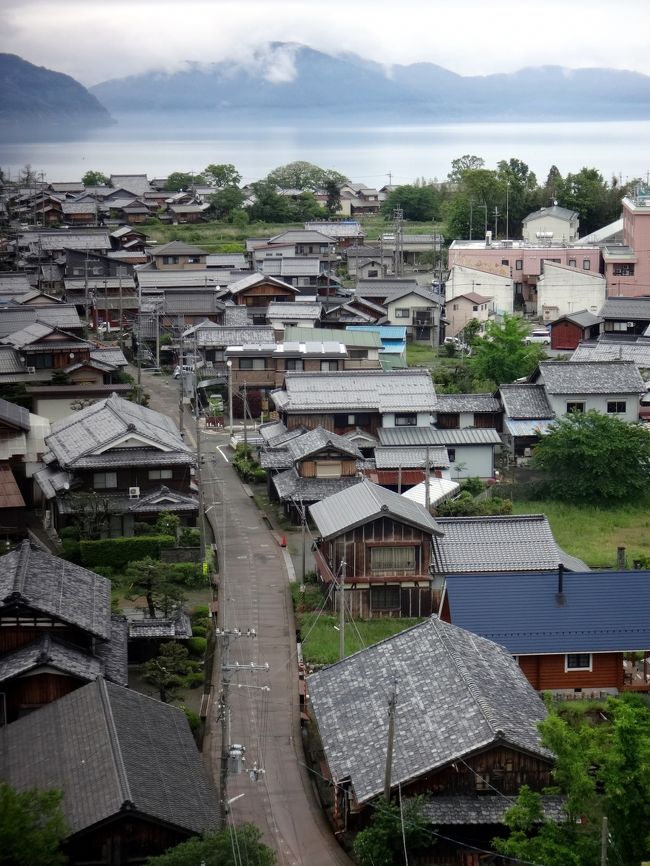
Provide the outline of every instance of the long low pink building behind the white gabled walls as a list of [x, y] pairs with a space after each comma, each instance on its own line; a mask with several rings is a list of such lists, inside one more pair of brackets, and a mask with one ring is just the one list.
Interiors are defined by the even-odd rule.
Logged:
[[525, 313], [537, 312], [537, 281], [544, 273], [545, 261], [597, 274], [600, 271], [600, 249], [579, 244], [493, 241], [489, 232], [485, 240], [457, 240], [449, 247], [450, 268], [460, 265], [502, 276], [509, 273], [513, 281], [514, 309]]

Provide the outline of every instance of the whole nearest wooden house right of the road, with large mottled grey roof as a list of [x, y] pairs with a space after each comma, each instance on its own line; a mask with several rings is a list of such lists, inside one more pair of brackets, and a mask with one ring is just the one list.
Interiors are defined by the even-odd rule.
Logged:
[[[426, 863], [486, 862], [476, 851], [504, 834], [510, 798], [551, 783], [546, 711], [515, 661], [436, 617], [312, 674], [307, 690], [319, 734], [309, 751], [331, 777], [341, 831], [365, 826], [383, 797], [389, 744], [391, 796], [423, 795], [435, 828]], [[561, 818], [559, 798], [542, 803]]]

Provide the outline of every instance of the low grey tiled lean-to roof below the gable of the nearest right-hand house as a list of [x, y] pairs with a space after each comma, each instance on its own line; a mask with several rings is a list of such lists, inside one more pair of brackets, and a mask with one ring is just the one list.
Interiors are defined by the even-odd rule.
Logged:
[[[516, 797], [503, 794], [440, 795], [425, 797], [422, 802], [423, 815], [436, 826], [454, 824], [503, 824], [508, 809], [514, 806]], [[559, 794], [544, 794], [540, 805], [548, 821], [565, 821], [565, 798]]]

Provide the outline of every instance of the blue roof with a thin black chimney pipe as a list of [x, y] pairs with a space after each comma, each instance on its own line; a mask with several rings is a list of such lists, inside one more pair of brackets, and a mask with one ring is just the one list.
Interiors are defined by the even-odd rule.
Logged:
[[451, 621], [515, 655], [650, 648], [650, 571], [454, 574]]

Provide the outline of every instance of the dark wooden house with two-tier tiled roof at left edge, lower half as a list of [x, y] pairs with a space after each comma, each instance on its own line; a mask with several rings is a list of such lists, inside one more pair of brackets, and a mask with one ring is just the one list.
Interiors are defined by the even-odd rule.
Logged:
[[127, 683], [127, 624], [111, 616], [110, 581], [29, 541], [0, 557], [0, 626], [3, 724], [99, 676]]

